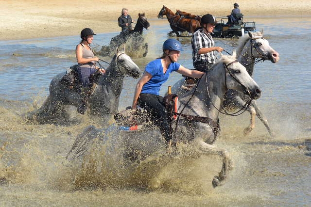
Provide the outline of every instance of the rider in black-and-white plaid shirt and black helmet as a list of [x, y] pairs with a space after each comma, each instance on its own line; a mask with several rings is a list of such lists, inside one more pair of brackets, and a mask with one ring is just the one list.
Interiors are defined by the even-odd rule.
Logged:
[[192, 34], [192, 61], [193, 66], [198, 71], [206, 72], [216, 62], [215, 51], [221, 52], [223, 50], [221, 47], [214, 47], [215, 42], [211, 33], [215, 23], [217, 22], [214, 16], [204, 15], [201, 18], [202, 27]]

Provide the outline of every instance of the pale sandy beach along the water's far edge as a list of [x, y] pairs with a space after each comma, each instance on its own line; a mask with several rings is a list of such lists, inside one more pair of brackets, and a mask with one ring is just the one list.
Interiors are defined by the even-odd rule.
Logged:
[[[79, 2], [79, 3], [77, 3]], [[244, 16], [309, 16], [310, 0], [240, 0]], [[0, 34], [2, 40], [32, 39], [78, 35], [88, 27], [95, 33], [121, 31], [118, 17], [126, 7], [128, 14], [137, 20], [138, 13], [156, 19], [165, 5], [192, 15], [212, 14], [226, 16], [231, 13], [234, 1], [229, 0], [1, 0]], [[204, 6], [206, 5], [206, 6]]]

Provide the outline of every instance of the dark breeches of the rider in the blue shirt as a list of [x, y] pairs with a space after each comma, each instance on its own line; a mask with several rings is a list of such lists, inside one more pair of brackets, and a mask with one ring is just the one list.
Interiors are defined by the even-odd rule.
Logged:
[[138, 97], [139, 106], [147, 110], [153, 118], [154, 123], [159, 127], [166, 142], [170, 142], [170, 121], [165, 107], [162, 105], [163, 97], [153, 94], [140, 94]]

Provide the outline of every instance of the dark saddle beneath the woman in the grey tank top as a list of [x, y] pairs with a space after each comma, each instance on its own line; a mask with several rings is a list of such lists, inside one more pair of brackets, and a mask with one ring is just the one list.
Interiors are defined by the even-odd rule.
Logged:
[[[59, 80], [59, 83], [62, 86], [68, 88], [69, 90], [80, 94], [82, 91], [82, 82], [78, 76], [77, 72], [78, 68], [79, 65], [77, 64], [70, 66], [66, 71], [66, 75], [61, 80]], [[90, 75], [89, 77], [90, 84], [88, 88], [89, 91], [94, 92], [95, 89], [94, 86], [96, 86], [98, 80], [101, 78], [101, 75], [102, 73], [100, 72], [95, 72]]]

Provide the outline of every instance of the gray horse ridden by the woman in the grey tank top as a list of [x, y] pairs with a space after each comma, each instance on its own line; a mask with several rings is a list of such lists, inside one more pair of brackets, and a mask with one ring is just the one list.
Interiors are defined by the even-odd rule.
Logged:
[[[52, 79], [50, 95], [40, 109], [27, 114], [28, 120], [36, 121], [39, 124], [58, 123], [59, 120], [68, 117], [64, 108], [66, 105], [79, 107], [81, 94], [75, 93], [59, 83], [65, 74], [66, 72], [60, 73]], [[122, 50], [116, 48], [116, 54], [104, 75], [99, 79], [93, 94], [89, 97], [89, 114], [99, 117], [103, 123], [113, 117], [118, 111], [125, 75], [137, 79], [141, 76], [141, 71], [124, 53], [124, 48]]]

